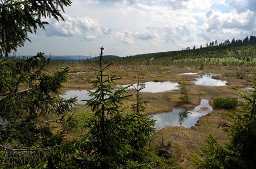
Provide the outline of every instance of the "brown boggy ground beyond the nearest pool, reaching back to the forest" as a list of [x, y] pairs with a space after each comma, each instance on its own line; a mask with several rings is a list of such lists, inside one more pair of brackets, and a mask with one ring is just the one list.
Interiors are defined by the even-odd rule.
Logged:
[[[63, 63], [64, 64], [64, 63]], [[70, 89], [91, 89], [91, 80], [95, 78], [96, 72], [92, 71], [90, 67], [97, 67], [94, 65], [82, 65], [79, 63], [67, 63], [70, 66], [71, 73], [69, 82], [65, 83], [66, 90]], [[55, 66], [58, 68], [58, 66]], [[105, 73], [116, 74], [117, 77], [122, 77], [116, 84], [132, 84], [137, 83], [137, 77], [140, 76], [140, 82], [178, 82], [179, 84], [185, 83], [190, 89], [189, 95], [192, 98], [190, 103], [184, 104], [180, 100], [180, 90], [161, 92], [161, 93], [142, 93], [142, 98], [147, 103], [145, 111], [146, 115], [152, 113], [160, 113], [172, 111], [174, 108], [194, 108], [199, 105], [201, 98], [206, 98], [211, 101], [216, 97], [237, 97], [238, 92], [244, 92], [243, 87], [250, 86], [252, 84], [246, 79], [238, 79], [235, 77], [224, 76], [230, 71], [237, 70], [237, 68], [230, 67], [208, 67], [200, 70], [196, 67], [176, 67], [176, 66], [120, 66], [113, 65], [107, 69]], [[179, 75], [179, 73], [193, 72], [198, 73], [194, 76]], [[220, 76], [214, 78], [225, 79], [228, 81], [227, 86], [220, 87], [207, 87], [196, 86], [194, 84], [195, 78], [202, 76], [205, 73], [219, 73]], [[130, 94], [134, 94], [133, 90], [129, 90]], [[131, 105], [135, 101], [135, 96], [131, 96], [125, 105]]]

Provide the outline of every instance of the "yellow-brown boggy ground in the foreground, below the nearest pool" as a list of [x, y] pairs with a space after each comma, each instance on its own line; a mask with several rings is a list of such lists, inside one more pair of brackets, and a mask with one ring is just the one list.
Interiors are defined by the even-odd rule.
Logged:
[[195, 168], [193, 157], [203, 148], [209, 135], [212, 135], [220, 145], [228, 141], [224, 132], [225, 112], [214, 110], [199, 119], [195, 126], [166, 127], [158, 131], [154, 139], [154, 147], [157, 149], [164, 139], [164, 150], [170, 157], [176, 159], [175, 163], [183, 168]]

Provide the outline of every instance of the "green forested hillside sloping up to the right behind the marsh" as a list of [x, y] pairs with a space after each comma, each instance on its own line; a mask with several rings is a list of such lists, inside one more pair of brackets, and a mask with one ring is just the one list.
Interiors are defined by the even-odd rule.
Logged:
[[[245, 39], [248, 39], [246, 37]], [[229, 43], [198, 49], [138, 54], [116, 62], [122, 64], [190, 65], [190, 66], [255, 66], [256, 37], [250, 36], [244, 43]], [[239, 41], [239, 42], [240, 42]]]

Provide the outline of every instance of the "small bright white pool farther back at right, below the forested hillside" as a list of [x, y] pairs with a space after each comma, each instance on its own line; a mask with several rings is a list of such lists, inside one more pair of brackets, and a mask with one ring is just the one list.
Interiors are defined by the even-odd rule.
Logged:
[[204, 74], [204, 76], [200, 78], [195, 78], [196, 81], [194, 84], [200, 86], [226, 86], [227, 81], [222, 81], [218, 79], [211, 78], [213, 74]]

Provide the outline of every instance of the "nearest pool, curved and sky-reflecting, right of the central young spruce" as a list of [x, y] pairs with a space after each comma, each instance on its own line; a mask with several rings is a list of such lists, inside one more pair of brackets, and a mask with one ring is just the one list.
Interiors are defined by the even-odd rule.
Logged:
[[196, 106], [194, 110], [188, 110], [189, 113], [181, 124], [179, 122], [179, 114], [184, 112], [184, 110], [175, 110], [172, 112], [160, 113], [152, 115], [150, 118], [156, 120], [156, 130], [160, 130], [161, 128], [167, 126], [184, 126], [186, 128], [190, 128], [196, 124], [199, 117], [204, 116], [211, 111], [213, 111], [213, 107], [209, 105], [209, 101], [202, 99], [200, 105]]

